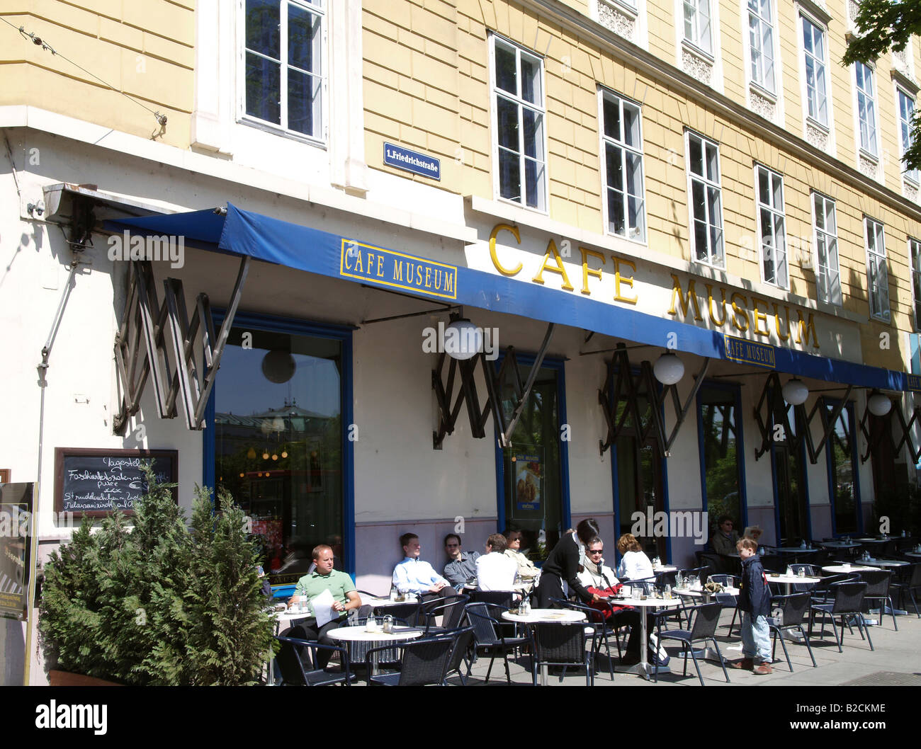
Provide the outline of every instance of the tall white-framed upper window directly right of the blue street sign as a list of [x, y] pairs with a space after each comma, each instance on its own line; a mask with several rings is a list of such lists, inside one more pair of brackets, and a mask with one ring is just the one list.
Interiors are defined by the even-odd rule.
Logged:
[[543, 61], [495, 36], [493, 61], [499, 196], [544, 211]]

